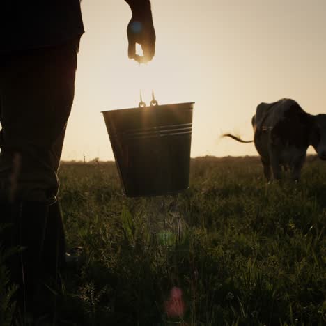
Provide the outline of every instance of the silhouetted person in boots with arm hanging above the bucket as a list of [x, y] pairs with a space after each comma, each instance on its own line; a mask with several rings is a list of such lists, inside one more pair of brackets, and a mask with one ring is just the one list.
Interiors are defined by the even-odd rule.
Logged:
[[[128, 56], [150, 61], [155, 54], [150, 1], [125, 1], [132, 10]], [[1, 3], [0, 222], [11, 227], [0, 239], [5, 249], [26, 247], [8, 261], [21, 306], [32, 306], [45, 273], [55, 276], [65, 265], [57, 171], [83, 33], [79, 0]], [[136, 42], [143, 57], [135, 53]]]

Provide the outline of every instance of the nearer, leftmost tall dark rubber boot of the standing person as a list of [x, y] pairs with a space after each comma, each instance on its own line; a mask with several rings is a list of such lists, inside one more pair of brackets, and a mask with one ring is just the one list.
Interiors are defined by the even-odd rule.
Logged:
[[[39, 201], [0, 205], [1, 222], [11, 224], [3, 238], [5, 250], [20, 247], [8, 258], [11, 280], [19, 286], [17, 307], [24, 314], [33, 309], [33, 300], [43, 277], [42, 250], [49, 205]], [[3, 213], [4, 212], [4, 213]]]

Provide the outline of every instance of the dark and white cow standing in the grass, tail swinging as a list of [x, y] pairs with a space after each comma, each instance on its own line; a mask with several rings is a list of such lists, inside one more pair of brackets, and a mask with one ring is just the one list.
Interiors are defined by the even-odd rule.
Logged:
[[233, 134], [222, 136], [242, 143], [254, 142], [268, 181], [272, 176], [281, 179], [282, 166], [292, 171], [294, 180], [299, 180], [310, 145], [321, 160], [326, 160], [326, 114], [308, 114], [295, 100], [284, 98], [259, 104], [251, 124], [253, 141], [243, 141]]

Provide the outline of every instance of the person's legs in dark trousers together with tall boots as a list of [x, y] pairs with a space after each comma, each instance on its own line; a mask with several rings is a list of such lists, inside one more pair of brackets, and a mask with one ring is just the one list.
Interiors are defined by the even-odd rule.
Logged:
[[0, 55], [0, 236], [20, 309], [65, 259], [57, 171], [75, 90], [77, 43]]

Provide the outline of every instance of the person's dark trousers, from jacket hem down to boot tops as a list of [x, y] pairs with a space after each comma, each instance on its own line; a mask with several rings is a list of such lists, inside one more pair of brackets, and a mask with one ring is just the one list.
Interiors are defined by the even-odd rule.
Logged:
[[0, 55], [0, 199], [55, 201], [77, 43]]

